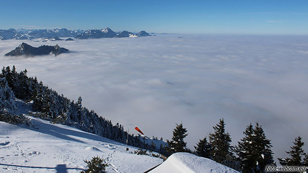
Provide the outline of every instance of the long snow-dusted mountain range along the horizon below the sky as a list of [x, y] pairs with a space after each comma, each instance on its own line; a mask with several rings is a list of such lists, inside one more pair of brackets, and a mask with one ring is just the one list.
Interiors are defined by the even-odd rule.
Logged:
[[58, 40], [53, 38], [73, 37], [76, 39], [89, 39], [89, 38], [123, 38], [123, 37], [144, 37], [150, 36], [145, 31], [132, 33], [128, 31], [114, 32], [110, 28], [105, 29], [91, 29], [91, 30], [68, 30], [62, 29], [13, 29], [8, 30], [0, 29], [0, 40], [5, 39], [38, 39], [40, 41]]

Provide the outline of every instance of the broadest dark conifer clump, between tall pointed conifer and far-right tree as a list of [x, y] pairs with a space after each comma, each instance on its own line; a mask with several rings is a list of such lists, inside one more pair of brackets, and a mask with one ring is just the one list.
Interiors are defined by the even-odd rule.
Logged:
[[275, 165], [270, 140], [258, 123], [253, 128], [247, 126], [244, 137], [236, 146], [236, 154], [240, 161], [240, 171], [243, 173], [263, 173], [266, 165]]

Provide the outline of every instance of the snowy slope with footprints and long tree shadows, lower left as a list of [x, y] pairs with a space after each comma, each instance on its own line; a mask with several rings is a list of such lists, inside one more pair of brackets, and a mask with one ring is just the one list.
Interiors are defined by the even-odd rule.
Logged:
[[[103, 156], [110, 173], [141, 173], [162, 159], [125, 153], [125, 145], [70, 126], [29, 117], [36, 128], [0, 122], [0, 173], [77, 173], [86, 168], [83, 159]], [[137, 150], [129, 147], [130, 152]]]

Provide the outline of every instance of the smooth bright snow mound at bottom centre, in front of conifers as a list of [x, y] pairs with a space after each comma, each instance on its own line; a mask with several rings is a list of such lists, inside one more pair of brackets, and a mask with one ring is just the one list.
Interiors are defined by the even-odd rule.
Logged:
[[172, 154], [150, 173], [239, 173], [211, 159], [189, 153]]

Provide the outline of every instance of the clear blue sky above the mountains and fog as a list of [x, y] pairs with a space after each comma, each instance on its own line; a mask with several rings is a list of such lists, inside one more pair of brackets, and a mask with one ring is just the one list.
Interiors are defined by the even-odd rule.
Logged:
[[0, 0], [0, 28], [308, 35], [308, 0]]

